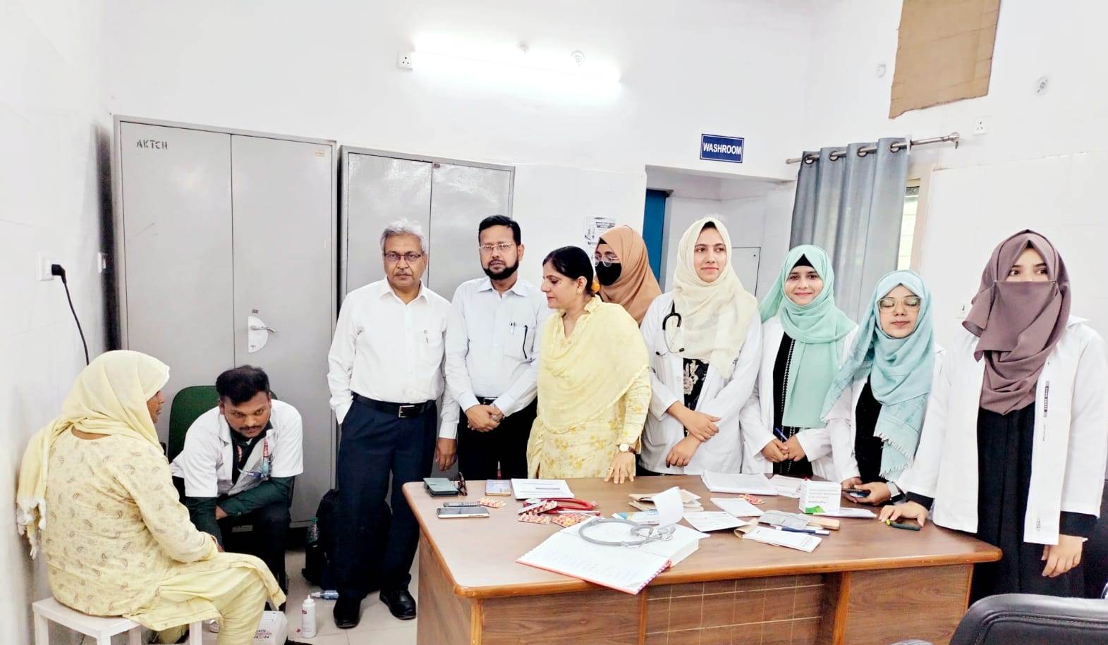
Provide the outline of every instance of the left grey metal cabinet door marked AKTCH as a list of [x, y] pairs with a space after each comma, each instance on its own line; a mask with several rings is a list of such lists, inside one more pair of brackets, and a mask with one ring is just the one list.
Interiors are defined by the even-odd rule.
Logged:
[[[230, 135], [120, 122], [123, 347], [170, 366], [167, 401], [234, 358]], [[158, 436], [168, 433], [168, 407]]]

